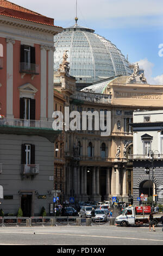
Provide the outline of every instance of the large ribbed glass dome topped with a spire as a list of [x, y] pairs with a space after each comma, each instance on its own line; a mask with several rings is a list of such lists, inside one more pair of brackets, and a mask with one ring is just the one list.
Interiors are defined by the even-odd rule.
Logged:
[[68, 50], [70, 75], [77, 83], [90, 84], [118, 75], [131, 75], [127, 60], [109, 40], [93, 29], [74, 25], [54, 36], [54, 71], [58, 71], [65, 50]]

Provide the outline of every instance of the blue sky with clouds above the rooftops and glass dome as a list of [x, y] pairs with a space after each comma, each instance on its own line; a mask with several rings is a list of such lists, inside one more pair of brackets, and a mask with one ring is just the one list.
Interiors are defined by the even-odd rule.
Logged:
[[[56, 26], [74, 24], [76, 0], [10, 0], [54, 19]], [[162, 0], [78, 0], [78, 24], [114, 43], [129, 62], [139, 62], [151, 84], [163, 84]]]

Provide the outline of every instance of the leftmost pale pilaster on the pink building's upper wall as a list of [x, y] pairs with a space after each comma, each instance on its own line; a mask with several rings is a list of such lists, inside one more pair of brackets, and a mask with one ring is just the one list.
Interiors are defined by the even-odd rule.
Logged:
[[15, 40], [6, 39], [7, 42], [7, 118], [14, 118], [13, 115], [13, 45]]

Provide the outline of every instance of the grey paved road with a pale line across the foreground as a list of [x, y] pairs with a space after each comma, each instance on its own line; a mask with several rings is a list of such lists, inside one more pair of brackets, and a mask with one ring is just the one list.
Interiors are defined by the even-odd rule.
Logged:
[[0, 245], [163, 245], [163, 232], [156, 227], [1, 227]]

